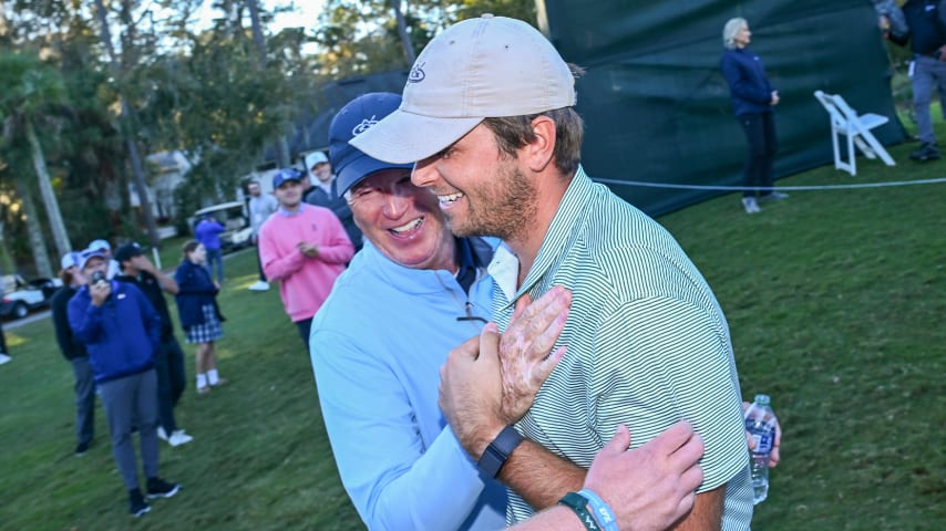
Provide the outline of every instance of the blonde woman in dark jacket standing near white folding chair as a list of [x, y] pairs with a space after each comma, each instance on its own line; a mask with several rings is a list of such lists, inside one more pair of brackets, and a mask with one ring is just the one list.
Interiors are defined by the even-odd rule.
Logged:
[[[759, 201], [780, 200], [788, 194], [775, 191], [772, 180], [772, 164], [775, 160], [778, 139], [773, 107], [779, 104], [779, 91], [765, 76], [759, 55], [746, 46], [752, 38], [746, 19], [734, 18], [722, 30], [720, 67], [729, 84], [732, 110], [749, 140], [743, 174], [742, 207], [748, 214], [760, 211]], [[758, 198], [757, 198], [758, 194]]]

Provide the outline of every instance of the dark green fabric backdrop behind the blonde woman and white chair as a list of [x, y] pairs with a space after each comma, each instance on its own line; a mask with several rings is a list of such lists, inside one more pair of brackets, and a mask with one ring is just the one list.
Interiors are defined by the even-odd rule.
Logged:
[[[831, 164], [827, 114], [815, 90], [839, 93], [860, 113], [890, 116], [874, 129], [904, 139], [891, 96], [891, 66], [866, 0], [546, 0], [548, 33], [578, 81], [586, 119], [585, 169], [595, 178], [741, 185], [746, 155], [719, 70], [722, 27], [743, 17], [781, 103], [777, 177]], [[863, 163], [862, 163], [863, 164]], [[878, 164], [878, 163], [871, 163]], [[609, 183], [651, 215], [721, 194]]]

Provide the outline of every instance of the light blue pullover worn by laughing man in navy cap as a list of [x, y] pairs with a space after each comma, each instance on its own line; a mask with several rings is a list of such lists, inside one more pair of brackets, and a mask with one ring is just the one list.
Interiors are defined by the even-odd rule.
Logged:
[[450, 271], [404, 268], [366, 242], [312, 321], [322, 417], [372, 531], [504, 527], [504, 488], [480, 475], [438, 406], [448, 353], [485, 322], [456, 317], [489, 320], [491, 288], [481, 274], [467, 300]]

